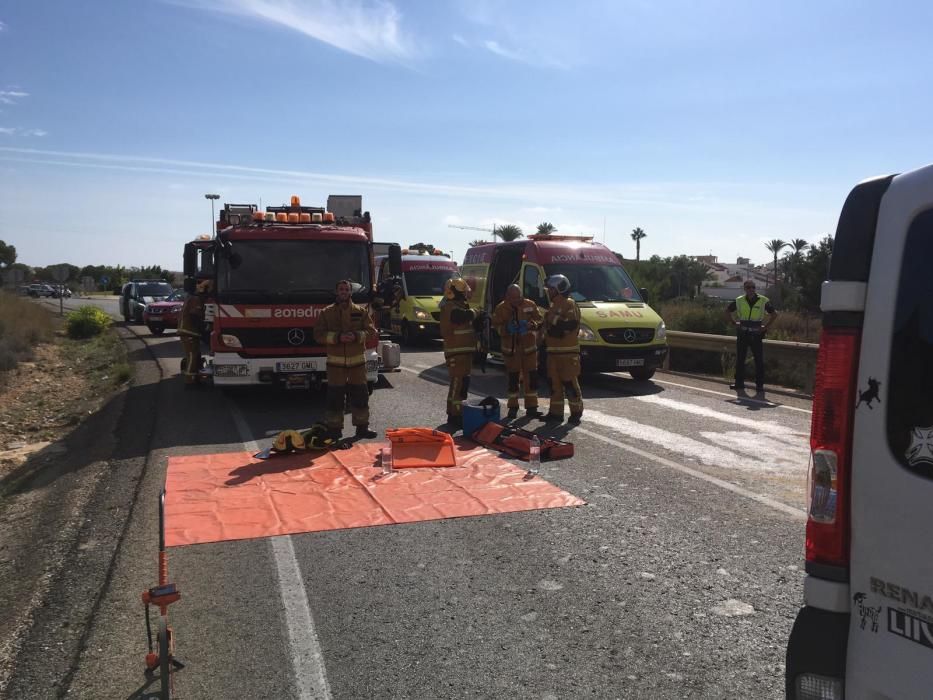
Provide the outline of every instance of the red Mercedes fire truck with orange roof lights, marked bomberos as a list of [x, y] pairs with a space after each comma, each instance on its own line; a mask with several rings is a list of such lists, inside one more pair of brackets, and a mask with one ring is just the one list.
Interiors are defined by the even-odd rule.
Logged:
[[[204, 376], [218, 386], [279, 384], [319, 388], [327, 376], [326, 349], [314, 340], [314, 325], [334, 301], [339, 280], [353, 283], [352, 299], [373, 300], [374, 245], [401, 269], [401, 248], [374, 244], [372, 219], [362, 197], [331, 195], [327, 207], [225, 204], [213, 236], [185, 245], [185, 289], [198, 279], [214, 281], [205, 300]], [[380, 369], [398, 366], [389, 344], [372, 339], [366, 348], [370, 390]]]

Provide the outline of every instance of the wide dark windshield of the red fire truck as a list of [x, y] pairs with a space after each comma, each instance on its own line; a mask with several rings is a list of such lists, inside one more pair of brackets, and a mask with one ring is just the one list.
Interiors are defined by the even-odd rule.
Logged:
[[354, 297], [366, 300], [371, 277], [365, 243], [236, 241], [217, 266], [218, 294], [244, 302], [274, 297], [282, 303], [328, 303], [342, 279], [359, 284]]

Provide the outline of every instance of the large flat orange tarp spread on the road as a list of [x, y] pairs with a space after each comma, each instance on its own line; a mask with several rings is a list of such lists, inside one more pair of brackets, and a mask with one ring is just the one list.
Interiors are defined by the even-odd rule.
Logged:
[[584, 501], [471, 442], [457, 466], [383, 477], [386, 443], [254, 459], [248, 452], [169, 457], [169, 547], [300, 532], [392, 525], [584, 505]]

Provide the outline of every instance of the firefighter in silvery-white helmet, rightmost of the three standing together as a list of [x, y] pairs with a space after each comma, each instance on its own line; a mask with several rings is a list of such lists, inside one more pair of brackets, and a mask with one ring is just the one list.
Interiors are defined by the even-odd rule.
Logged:
[[551, 301], [544, 318], [547, 345], [547, 374], [551, 381], [551, 403], [545, 420], [564, 419], [564, 394], [570, 404], [570, 422], [579, 423], [583, 416], [583, 394], [580, 392], [580, 309], [570, 298], [570, 280], [564, 275], [551, 275], [547, 282]]

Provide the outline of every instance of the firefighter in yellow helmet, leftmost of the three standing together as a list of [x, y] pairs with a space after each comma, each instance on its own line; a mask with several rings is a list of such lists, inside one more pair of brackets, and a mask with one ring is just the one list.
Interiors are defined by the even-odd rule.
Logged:
[[476, 352], [476, 312], [467, 303], [470, 285], [458, 278], [447, 280], [441, 307], [441, 337], [444, 362], [450, 375], [447, 390], [447, 424], [463, 425], [463, 401], [470, 391], [470, 372]]

